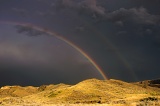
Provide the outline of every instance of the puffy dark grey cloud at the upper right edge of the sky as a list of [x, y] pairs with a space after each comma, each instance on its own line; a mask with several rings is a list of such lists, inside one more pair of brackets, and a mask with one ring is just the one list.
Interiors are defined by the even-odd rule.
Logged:
[[134, 24], [146, 25], [155, 25], [160, 22], [159, 15], [152, 15], [143, 7], [131, 9], [120, 8], [106, 14], [106, 19], [112, 22], [132, 22]]

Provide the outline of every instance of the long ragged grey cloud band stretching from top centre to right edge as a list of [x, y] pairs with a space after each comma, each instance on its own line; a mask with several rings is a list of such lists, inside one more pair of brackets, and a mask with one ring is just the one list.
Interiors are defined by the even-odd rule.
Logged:
[[160, 22], [160, 16], [150, 14], [144, 7], [140, 8], [120, 8], [115, 11], [106, 12], [106, 9], [97, 4], [96, 0], [82, 0], [76, 2], [74, 0], [61, 0], [56, 3], [57, 7], [70, 8], [81, 13], [89, 13], [92, 18], [97, 19], [97, 15], [107, 21], [123, 25], [124, 22], [132, 22], [136, 24], [155, 25]]

